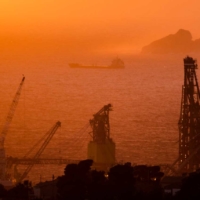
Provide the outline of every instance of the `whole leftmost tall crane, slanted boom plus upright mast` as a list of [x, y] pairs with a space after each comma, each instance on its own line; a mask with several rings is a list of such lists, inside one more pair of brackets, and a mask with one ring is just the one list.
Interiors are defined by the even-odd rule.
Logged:
[[4, 141], [7, 135], [7, 132], [9, 130], [11, 121], [13, 119], [19, 98], [20, 98], [20, 94], [21, 94], [21, 90], [22, 90], [22, 86], [24, 84], [24, 80], [25, 77], [22, 78], [20, 85], [18, 87], [18, 90], [14, 96], [14, 99], [12, 101], [12, 104], [10, 106], [7, 118], [6, 118], [6, 123], [3, 126], [2, 132], [0, 134], [0, 179], [5, 179], [6, 178], [6, 154], [5, 154], [5, 148], [4, 148]]

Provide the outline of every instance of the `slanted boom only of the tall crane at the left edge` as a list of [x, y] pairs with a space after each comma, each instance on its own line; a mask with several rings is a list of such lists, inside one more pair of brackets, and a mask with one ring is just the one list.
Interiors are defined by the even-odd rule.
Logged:
[[17, 104], [18, 104], [18, 101], [19, 101], [19, 97], [20, 97], [20, 94], [21, 94], [22, 86], [24, 84], [24, 80], [25, 80], [25, 77], [22, 78], [21, 83], [19, 85], [19, 88], [18, 88], [18, 90], [17, 90], [17, 92], [14, 96], [13, 102], [10, 106], [10, 109], [9, 109], [9, 112], [8, 112], [8, 115], [7, 115], [7, 118], [6, 118], [6, 123], [3, 127], [1, 135], [0, 135], [0, 148], [4, 148], [5, 137], [6, 137], [6, 134], [8, 132], [9, 126], [11, 124], [11, 121], [13, 119], [13, 116], [14, 116], [14, 113], [15, 113], [15, 110], [16, 110], [16, 107], [17, 107]]

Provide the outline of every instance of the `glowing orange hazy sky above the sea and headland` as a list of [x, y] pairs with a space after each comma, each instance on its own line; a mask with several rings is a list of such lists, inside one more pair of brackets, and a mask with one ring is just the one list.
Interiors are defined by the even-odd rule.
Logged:
[[199, 0], [0, 0], [0, 50], [134, 53], [183, 28], [200, 38]]

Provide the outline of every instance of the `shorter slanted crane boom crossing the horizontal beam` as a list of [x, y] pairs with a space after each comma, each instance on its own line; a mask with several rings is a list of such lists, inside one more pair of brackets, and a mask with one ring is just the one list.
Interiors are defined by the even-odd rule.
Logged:
[[37, 151], [37, 153], [34, 155], [33, 158], [31, 158], [31, 160], [33, 162], [31, 162], [30, 165], [28, 165], [28, 167], [26, 168], [26, 170], [24, 171], [24, 173], [22, 174], [22, 176], [19, 178], [18, 182], [21, 182], [24, 178], [26, 178], [26, 176], [28, 175], [28, 173], [31, 171], [31, 169], [33, 168], [33, 166], [38, 162], [39, 157], [41, 156], [41, 154], [43, 153], [43, 151], [45, 150], [46, 146], [49, 144], [50, 140], [52, 139], [52, 137], [54, 136], [54, 134], [56, 133], [57, 129], [61, 126], [61, 122], [58, 121], [56, 122], [56, 124], [46, 133], [47, 138], [45, 139], [45, 141], [43, 142], [42, 146], [39, 148], [39, 150]]

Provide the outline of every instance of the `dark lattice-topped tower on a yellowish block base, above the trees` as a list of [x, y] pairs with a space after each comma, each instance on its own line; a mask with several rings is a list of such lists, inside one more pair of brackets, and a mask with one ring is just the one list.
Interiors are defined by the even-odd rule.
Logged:
[[115, 143], [110, 137], [109, 112], [111, 110], [111, 104], [105, 105], [90, 120], [92, 140], [88, 144], [88, 159], [94, 161], [96, 169], [106, 170], [115, 164]]

